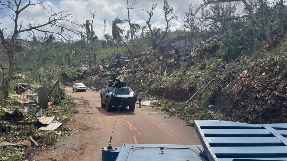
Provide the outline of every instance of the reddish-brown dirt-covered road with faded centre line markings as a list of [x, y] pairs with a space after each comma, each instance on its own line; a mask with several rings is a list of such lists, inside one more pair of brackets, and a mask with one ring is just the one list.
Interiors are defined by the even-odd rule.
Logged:
[[[73, 120], [64, 127], [73, 130], [69, 137], [62, 137], [49, 149], [35, 155], [35, 160], [101, 160], [102, 147], [108, 140], [117, 115], [117, 110], [106, 112], [100, 105], [98, 92], [72, 92], [68, 95], [77, 104]], [[134, 112], [121, 109], [115, 125], [112, 146], [124, 143], [139, 144], [200, 144], [193, 127], [185, 126], [179, 118], [152, 109], [141, 107]]]

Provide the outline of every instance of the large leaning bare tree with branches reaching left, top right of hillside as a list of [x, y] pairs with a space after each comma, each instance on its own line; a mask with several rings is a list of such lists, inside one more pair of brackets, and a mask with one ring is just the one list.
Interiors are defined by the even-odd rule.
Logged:
[[237, 15], [234, 17], [223, 18], [223, 19], [214, 17], [213, 22], [231, 21], [231, 20], [237, 20], [240, 18], [249, 17], [262, 30], [262, 33], [263, 33], [266, 41], [268, 42], [269, 46], [273, 47], [274, 42], [273, 42], [273, 39], [270, 35], [269, 28], [266, 26], [266, 22], [265, 22], [265, 16], [264, 16], [265, 2], [263, 2], [263, 0], [259, 0], [259, 2], [260, 2], [260, 19], [255, 16], [255, 12], [257, 12], [258, 10], [254, 10], [254, 7], [252, 5], [253, 1], [247, 2], [246, 0], [204, 0], [203, 6], [208, 5], [208, 4], [212, 4], [212, 3], [217, 3], [217, 2], [240, 2], [240, 1], [245, 6], [248, 14], [241, 15], [241, 16]]

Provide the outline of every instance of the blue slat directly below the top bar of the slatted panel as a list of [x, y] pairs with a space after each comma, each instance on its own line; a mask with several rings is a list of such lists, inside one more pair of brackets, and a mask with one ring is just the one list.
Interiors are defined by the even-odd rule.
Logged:
[[202, 129], [205, 137], [272, 137], [266, 129]]

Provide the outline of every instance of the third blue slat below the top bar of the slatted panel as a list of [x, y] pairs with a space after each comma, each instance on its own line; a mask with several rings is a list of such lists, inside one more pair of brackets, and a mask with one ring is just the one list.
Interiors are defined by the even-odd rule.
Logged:
[[282, 147], [212, 147], [217, 158], [231, 157], [287, 157], [287, 146]]

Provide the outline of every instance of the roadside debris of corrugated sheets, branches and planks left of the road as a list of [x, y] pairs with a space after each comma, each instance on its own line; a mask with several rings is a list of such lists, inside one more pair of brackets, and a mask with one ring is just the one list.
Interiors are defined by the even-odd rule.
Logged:
[[12, 94], [9, 101], [3, 99], [0, 107], [1, 158], [9, 159], [17, 156], [21, 159], [20, 154], [24, 153], [23, 147], [46, 146], [56, 141], [56, 135], [60, 135], [61, 132], [56, 134], [49, 131], [54, 131], [63, 124], [64, 119], [60, 116], [60, 111], [64, 109], [68, 112], [69, 109], [66, 107], [59, 109], [61, 106], [66, 106], [63, 103], [69, 99], [57, 102], [58, 104], [53, 106], [56, 101], [51, 97], [55, 95], [51, 93], [58, 84], [59, 81], [56, 81], [48, 92], [43, 85], [33, 89], [28, 85], [23, 87], [22, 84], [18, 84], [20, 86], [15, 90], [24, 92]]

